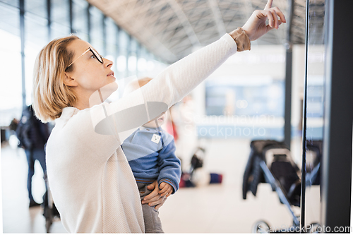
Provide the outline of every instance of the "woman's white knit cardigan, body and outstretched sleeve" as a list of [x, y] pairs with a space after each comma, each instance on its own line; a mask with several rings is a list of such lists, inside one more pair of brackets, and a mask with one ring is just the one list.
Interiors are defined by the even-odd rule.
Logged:
[[[172, 106], [235, 52], [237, 44], [230, 35], [224, 35], [172, 64], [140, 88], [144, 102]], [[120, 147], [124, 137], [95, 132], [104, 112], [111, 115], [140, 102], [140, 95], [132, 92], [90, 109], [66, 107], [56, 119], [47, 143], [47, 174], [54, 203], [67, 231], [145, 231], [136, 181]]]

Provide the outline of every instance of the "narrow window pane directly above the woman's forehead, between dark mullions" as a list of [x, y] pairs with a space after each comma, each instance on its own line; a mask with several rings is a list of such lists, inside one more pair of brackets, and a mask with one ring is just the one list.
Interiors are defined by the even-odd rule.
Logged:
[[73, 32], [80, 39], [88, 41], [88, 2], [85, 0], [73, 0]]

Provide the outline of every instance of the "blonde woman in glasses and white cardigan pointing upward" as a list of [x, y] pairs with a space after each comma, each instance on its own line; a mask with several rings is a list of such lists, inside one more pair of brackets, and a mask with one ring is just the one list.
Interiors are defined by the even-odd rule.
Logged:
[[[181, 100], [237, 50], [250, 49], [250, 41], [285, 22], [280, 9], [271, 6], [268, 0], [242, 28], [110, 104], [102, 102], [116, 90], [112, 61], [75, 36], [53, 40], [42, 49], [35, 65], [35, 114], [43, 122], [56, 119], [47, 143], [47, 173], [61, 222], [69, 232], [145, 231], [138, 188], [121, 143], [138, 125]], [[141, 104], [148, 110], [137, 109]], [[157, 209], [165, 198], [153, 187], [142, 203]]]

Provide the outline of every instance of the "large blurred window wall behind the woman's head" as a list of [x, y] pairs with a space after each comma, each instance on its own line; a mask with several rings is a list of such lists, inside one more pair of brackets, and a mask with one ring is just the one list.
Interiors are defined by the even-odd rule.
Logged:
[[[20, 2], [23, 3], [23, 16], [20, 16]], [[139, 76], [148, 76], [153, 69], [160, 71], [165, 67], [158, 62], [159, 66], [150, 66], [153, 69], [147, 71], [144, 65], [148, 63], [150, 52], [146, 49], [140, 52], [143, 47], [134, 37], [85, 0], [0, 0], [0, 12], [0, 62], [1, 68], [6, 68], [0, 71], [0, 126], [8, 126], [13, 118], [19, 119], [23, 105], [32, 103], [35, 58], [54, 38], [66, 37], [73, 32], [89, 41], [100, 54], [114, 62], [112, 70], [118, 80], [137, 75], [138, 55], [142, 58]]]

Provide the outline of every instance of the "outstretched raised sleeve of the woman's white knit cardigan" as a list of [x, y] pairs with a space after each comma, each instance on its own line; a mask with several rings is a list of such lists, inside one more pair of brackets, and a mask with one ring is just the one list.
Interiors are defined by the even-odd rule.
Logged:
[[168, 66], [147, 85], [119, 100], [95, 105], [103, 102], [116, 89], [116, 83], [97, 90], [90, 97], [90, 114], [95, 132], [115, 135], [119, 144], [122, 143], [136, 128], [179, 102], [235, 52], [237, 44], [226, 34], [220, 40]]

